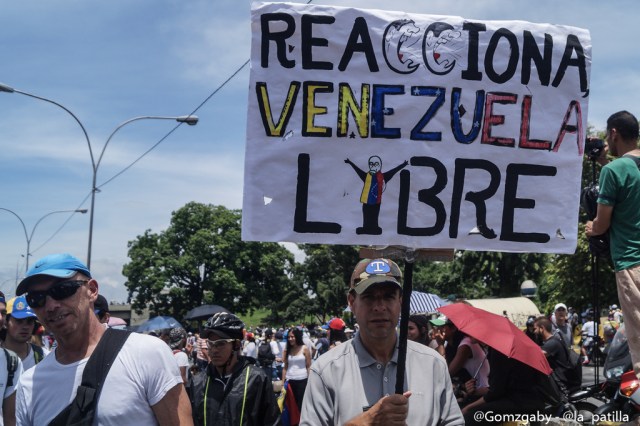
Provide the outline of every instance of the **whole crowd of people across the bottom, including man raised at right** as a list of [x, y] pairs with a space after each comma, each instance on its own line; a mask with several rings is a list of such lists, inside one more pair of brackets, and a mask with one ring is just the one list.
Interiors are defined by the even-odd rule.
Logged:
[[[612, 305], [611, 321], [624, 318], [636, 374], [638, 133], [637, 120], [626, 111], [607, 121], [611, 153], [634, 158], [603, 167], [597, 216], [585, 227], [590, 238], [610, 233], [625, 314]], [[443, 316], [409, 319], [405, 378], [397, 393], [402, 290], [398, 265], [364, 259], [347, 289], [355, 333], [340, 318], [318, 330], [246, 332], [236, 315], [220, 312], [198, 333], [175, 328], [152, 336], [109, 328], [108, 304], [91, 271], [72, 255], [47, 256], [27, 272], [16, 298], [0, 294], [0, 418], [9, 426], [82, 420], [118, 426], [462, 425], [487, 422], [476, 416], [479, 411], [544, 409], [536, 385], [546, 375], [482, 345]], [[598, 336], [595, 314], [587, 310], [580, 318], [558, 304], [551, 315], [527, 322], [526, 333], [540, 345], [562, 392], [580, 383], [581, 363], [576, 370], [572, 361], [579, 322], [582, 363], [591, 361], [588, 347]]]

